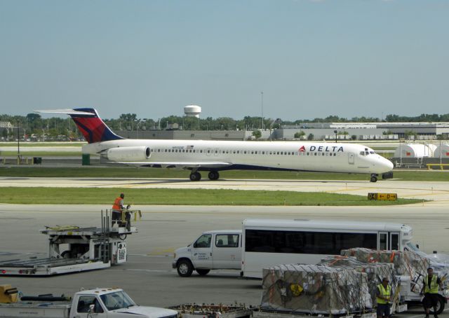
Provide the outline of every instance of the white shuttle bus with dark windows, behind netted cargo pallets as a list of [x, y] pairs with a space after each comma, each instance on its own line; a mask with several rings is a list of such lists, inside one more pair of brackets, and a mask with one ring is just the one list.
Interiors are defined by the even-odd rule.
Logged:
[[316, 264], [342, 249], [414, 250], [412, 228], [398, 223], [246, 219], [241, 276], [262, 278], [262, 268]]

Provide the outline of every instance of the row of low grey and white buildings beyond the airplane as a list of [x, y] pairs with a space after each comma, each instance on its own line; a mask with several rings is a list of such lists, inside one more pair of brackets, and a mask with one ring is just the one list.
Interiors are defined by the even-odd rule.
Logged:
[[[261, 130], [261, 140], [436, 140], [449, 139], [449, 123], [304, 123]], [[251, 130], [121, 130], [125, 138], [250, 140]]]

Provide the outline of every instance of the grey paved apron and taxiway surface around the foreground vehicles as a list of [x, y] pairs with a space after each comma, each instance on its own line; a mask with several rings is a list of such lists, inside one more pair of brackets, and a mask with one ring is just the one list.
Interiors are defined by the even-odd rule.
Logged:
[[[52, 178], [53, 179], [53, 178]], [[78, 180], [78, 181], [77, 181]], [[11, 184], [15, 181], [15, 184]], [[1, 186], [46, 185], [43, 179], [1, 178]], [[49, 182], [49, 181], [48, 181]], [[53, 179], [54, 182], [54, 179]], [[101, 186], [110, 180], [69, 179], [62, 183], [80, 186]], [[134, 183], [135, 182], [135, 183]], [[89, 184], [90, 183], [90, 184]], [[139, 186], [142, 180], [123, 180], [123, 184]], [[58, 184], [58, 186], [62, 186]], [[183, 180], [147, 180], [149, 187], [208, 186], [210, 181], [192, 183]], [[249, 186], [248, 186], [249, 184]], [[2, 277], [1, 284], [16, 286], [25, 294], [71, 294], [81, 287], [120, 286], [141, 305], [167, 307], [180, 303], [246, 303], [259, 305], [262, 295], [260, 280], [240, 279], [238, 271], [217, 270], [206, 277], [178, 277], [171, 268], [173, 251], [194, 241], [204, 230], [241, 228], [246, 218], [267, 219], [333, 219], [355, 221], [387, 221], [406, 223], [413, 227], [413, 241], [422, 250], [436, 250], [449, 254], [449, 183], [401, 183], [380, 181], [220, 181], [213, 186], [236, 188], [257, 187], [268, 190], [307, 188], [307, 191], [335, 191], [366, 195], [366, 191], [393, 191], [408, 198], [431, 198], [433, 202], [389, 207], [195, 207], [195, 206], [139, 206], [142, 220], [136, 223], [139, 233], [128, 237], [128, 263], [105, 270], [83, 272], [56, 277]], [[284, 188], [283, 188], [284, 190]], [[346, 191], [346, 192], [345, 192]], [[47, 237], [39, 233], [45, 226], [100, 226], [100, 205], [0, 205], [0, 260], [27, 257], [48, 252]], [[415, 307], [398, 317], [424, 317]], [[444, 313], [440, 317], [447, 318]]]

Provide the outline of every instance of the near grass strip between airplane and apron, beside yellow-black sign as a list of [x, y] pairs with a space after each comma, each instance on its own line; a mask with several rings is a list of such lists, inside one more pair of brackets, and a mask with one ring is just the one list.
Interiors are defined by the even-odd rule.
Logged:
[[404, 205], [422, 200], [370, 201], [366, 196], [293, 191], [123, 188], [2, 188], [1, 203], [54, 205], [112, 205], [126, 193], [131, 205]]

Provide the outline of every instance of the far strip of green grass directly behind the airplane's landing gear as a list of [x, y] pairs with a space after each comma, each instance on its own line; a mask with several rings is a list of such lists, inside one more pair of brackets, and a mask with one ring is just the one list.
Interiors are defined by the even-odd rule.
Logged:
[[[45, 161], [45, 158], [43, 158]], [[207, 172], [203, 172], [207, 178]], [[449, 181], [449, 172], [441, 170], [394, 171], [394, 179], [401, 181]], [[180, 178], [188, 179], [189, 171], [133, 167], [1, 167], [0, 177], [117, 177], [117, 178]], [[338, 174], [327, 172], [276, 172], [230, 170], [220, 172], [220, 179], [291, 179], [291, 180], [363, 180], [368, 174]], [[382, 181], [382, 180], [380, 180]], [[201, 181], [200, 181], [201, 182]], [[391, 182], [389, 180], [388, 182]]]

